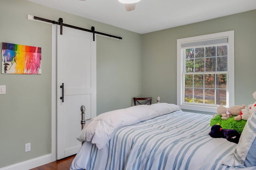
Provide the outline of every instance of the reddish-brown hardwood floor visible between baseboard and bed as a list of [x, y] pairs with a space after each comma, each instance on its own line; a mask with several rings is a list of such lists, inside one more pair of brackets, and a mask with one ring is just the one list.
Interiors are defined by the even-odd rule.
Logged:
[[33, 168], [31, 170], [69, 170], [72, 160], [75, 155], [69, 156], [67, 158], [56, 160], [49, 164], [45, 164], [42, 166], [38, 166], [37, 168]]

